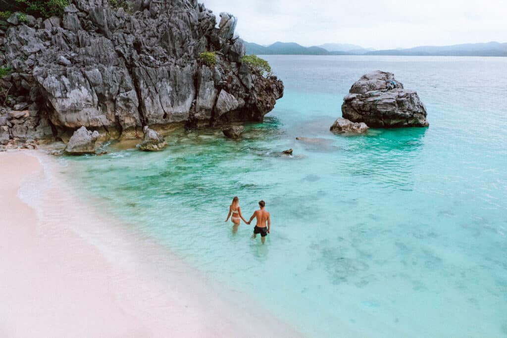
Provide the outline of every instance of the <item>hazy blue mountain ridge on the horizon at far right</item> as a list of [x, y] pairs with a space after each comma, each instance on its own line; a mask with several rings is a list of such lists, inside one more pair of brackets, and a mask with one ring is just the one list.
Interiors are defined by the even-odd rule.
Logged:
[[489, 42], [453, 46], [421, 46], [408, 49], [372, 51], [366, 55], [403, 56], [507, 56], [507, 43]]

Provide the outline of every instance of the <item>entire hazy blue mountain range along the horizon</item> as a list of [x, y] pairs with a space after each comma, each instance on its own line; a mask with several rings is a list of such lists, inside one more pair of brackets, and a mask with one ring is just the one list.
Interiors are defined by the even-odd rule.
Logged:
[[246, 54], [256, 55], [399, 55], [399, 56], [503, 56], [507, 43], [489, 42], [452, 46], [420, 46], [407, 49], [373, 50], [350, 44], [324, 44], [304, 47], [276, 42], [270, 46], [246, 43]]

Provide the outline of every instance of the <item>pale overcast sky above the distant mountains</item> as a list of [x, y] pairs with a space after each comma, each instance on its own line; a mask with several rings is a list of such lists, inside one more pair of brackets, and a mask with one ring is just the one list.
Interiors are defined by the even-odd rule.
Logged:
[[408, 48], [507, 42], [505, 0], [200, 0], [220, 20], [238, 17], [248, 42], [303, 46], [349, 43], [365, 48]]

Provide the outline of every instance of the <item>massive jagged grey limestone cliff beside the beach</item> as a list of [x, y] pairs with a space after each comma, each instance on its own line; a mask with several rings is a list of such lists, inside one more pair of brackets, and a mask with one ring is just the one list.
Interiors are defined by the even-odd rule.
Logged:
[[[129, 14], [107, 0], [74, 0], [62, 18], [12, 22], [0, 63], [14, 72], [0, 85], [35, 104], [57, 132], [85, 126], [111, 137], [151, 125], [260, 121], [283, 95], [281, 81], [241, 64], [234, 16], [222, 13], [216, 28], [196, 0], [132, 6]], [[215, 66], [199, 60], [204, 51], [216, 52]]]

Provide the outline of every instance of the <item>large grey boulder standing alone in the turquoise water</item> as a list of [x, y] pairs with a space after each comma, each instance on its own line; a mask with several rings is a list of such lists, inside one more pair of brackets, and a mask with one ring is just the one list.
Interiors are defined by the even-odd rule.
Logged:
[[429, 126], [426, 108], [417, 92], [404, 89], [394, 74], [380, 70], [352, 85], [344, 98], [342, 115], [373, 128]]

